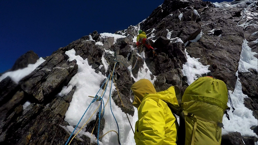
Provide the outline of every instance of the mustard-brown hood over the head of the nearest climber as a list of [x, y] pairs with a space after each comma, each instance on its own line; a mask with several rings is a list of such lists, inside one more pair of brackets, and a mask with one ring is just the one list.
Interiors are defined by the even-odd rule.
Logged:
[[136, 108], [140, 106], [145, 93], [157, 93], [153, 84], [148, 79], [140, 79], [132, 85], [131, 89], [134, 93], [134, 102], [132, 105]]

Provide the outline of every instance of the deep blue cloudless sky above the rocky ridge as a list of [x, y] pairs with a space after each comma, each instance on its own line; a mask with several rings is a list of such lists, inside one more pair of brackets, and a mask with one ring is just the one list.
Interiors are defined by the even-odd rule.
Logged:
[[0, 73], [29, 50], [46, 57], [94, 30], [114, 33], [136, 25], [163, 1], [1, 1]]

